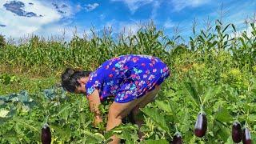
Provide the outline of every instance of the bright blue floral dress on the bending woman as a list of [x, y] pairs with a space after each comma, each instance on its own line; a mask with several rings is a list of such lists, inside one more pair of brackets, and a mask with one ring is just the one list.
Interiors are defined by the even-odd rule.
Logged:
[[154, 90], [169, 76], [169, 68], [159, 58], [122, 55], [102, 63], [90, 73], [86, 95], [98, 89], [101, 101], [114, 96], [114, 102], [130, 102]]

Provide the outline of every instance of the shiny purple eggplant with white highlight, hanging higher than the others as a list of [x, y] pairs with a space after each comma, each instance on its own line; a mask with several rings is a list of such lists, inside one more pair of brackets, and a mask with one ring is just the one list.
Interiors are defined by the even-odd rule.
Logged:
[[206, 130], [207, 130], [206, 114], [204, 112], [199, 112], [197, 122], [195, 122], [195, 125], [194, 125], [194, 134], [197, 137], [202, 138], [204, 135], [206, 135]]

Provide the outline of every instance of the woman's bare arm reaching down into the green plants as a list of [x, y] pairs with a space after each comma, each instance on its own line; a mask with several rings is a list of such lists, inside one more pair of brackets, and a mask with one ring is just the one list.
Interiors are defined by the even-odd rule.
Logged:
[[94, 126], [97, 126], [99, 122], [102, 122], [101, 113], [98, 110], [98, 106], [101, 104], [98, 90], [94, 90], [92, 94], [88, 96], [90, 110], [94, 113]]

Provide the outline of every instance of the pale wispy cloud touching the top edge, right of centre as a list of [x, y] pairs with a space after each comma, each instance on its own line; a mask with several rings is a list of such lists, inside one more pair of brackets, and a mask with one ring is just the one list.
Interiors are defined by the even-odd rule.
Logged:
[[174, 11], [180, 11], [186, 7], [198, 7], [210, 2], [210, 0], [171, 0]]

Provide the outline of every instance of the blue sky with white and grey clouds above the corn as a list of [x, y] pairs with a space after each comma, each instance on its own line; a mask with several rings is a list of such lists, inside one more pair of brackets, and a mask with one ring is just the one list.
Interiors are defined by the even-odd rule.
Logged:
[[0, 34], [21, 38], [30, 34], [44, 37], [62, 35], [70, 39], [90, 34], [90, 27], [102, 30], [111, 26], [113, 33], [130, 30], [135, 33], [141, 23], [153, 20], [165, 34], [179, 27], [184, 37], [191, 35], [197, 20], [203, 28], [206, 18], [214, 25], [223, 2], [224, 20], [244, 30], [244, 19], [256, 13], [255, 0], [18, 0], [0, 2]]

